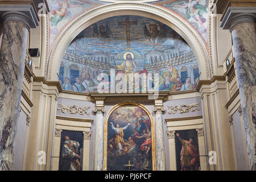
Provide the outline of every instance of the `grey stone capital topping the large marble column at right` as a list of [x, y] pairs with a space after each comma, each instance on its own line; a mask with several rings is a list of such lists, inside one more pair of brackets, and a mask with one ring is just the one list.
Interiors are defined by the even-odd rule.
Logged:
[[221, 22], [224, 30], [230, 30], [241, 23], [255, 23], [256, 7], [229, 7]]

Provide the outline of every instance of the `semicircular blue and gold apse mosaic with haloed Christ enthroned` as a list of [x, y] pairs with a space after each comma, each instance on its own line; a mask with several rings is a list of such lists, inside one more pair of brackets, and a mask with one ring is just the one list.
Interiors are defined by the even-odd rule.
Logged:
[[193, 51], [172, 28], [123, 15], [100, 20], [76, 36], [61, 60], [59, 81], [75, 92], [107, 91], [112, 84], [129, 91], [146, 85], [177, 92], [195, 89], [199, 73]]

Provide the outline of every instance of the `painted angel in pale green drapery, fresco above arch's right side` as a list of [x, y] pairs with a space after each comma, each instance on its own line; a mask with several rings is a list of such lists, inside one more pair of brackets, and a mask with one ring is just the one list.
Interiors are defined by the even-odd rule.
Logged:
[[190, 19], [191, 17], [194, 18], [197, 22], [200, 23], [201, 27], [204, 28], [204, 23], [206, 19], [203, 18], [204, 13], [208, 13], [205, 9], [204, 5], [200, 5], [200, 0], [187, 0], [188, 2], [185, 5], [175, 5], [174, 7], [181, 7], [187, 9], [186, 15], [187, 18]]

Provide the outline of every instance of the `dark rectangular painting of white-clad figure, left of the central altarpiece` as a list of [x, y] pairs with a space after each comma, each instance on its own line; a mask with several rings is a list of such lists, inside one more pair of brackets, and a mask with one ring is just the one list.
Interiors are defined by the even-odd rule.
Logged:
[[83, 153], [81, 131], [61, 132], [59, 171], [81, 171]]

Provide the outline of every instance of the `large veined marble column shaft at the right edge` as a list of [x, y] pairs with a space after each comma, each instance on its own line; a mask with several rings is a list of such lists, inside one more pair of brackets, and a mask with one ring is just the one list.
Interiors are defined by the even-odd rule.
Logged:
[[[246, 18], [246, 19], [245, 19]], [[245, 127], [249, 167], [255, 169], [256, 122], [256, 16], [241, 14], [233, 20], [233, 51], [236, 59], [237, 78]], [[242, 22], [241, 22], [242, 20]]]

